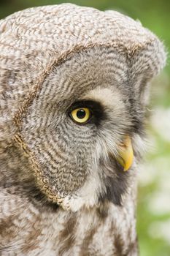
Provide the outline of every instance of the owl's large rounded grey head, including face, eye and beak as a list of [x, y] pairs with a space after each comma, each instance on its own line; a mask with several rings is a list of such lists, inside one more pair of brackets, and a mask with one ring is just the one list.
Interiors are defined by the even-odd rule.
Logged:
[[1, 20], [0, 51], [1, 147], [22, 154], [22, 182], [72, 211], [123, 204], [159, 39], [118, 12], [61, 4]]

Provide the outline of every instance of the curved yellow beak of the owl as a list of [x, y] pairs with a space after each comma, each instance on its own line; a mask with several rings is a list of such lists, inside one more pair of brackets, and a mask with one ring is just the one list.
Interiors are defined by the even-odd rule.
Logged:
[[131, 167], [134, 159], [134, 151], [131, 145], [131, 138], [128, 135], [125, 136], [123, 143], [119, 145], [118, 157], [116, 159], [122, 165], [124, 171]]

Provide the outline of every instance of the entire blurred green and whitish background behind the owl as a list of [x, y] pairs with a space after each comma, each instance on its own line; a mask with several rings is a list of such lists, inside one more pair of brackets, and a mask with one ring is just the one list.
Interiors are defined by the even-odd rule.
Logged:
[[[12, 12], [47, 4], [57, 0], [1, 0], [0, 18]], [[82, 0], [74, 4], [96, 7], [99, 10], [117, 10], [139, 19], [160, 37], [169, 51], [169, 0]], [[152, 82], [150, 125], [147, 126], [149, 146], [144, 165], [139, 170], [137, 231], [142, 256], [170, 255], [170, 65]], [[153, 117], [152, 117], [153, 116]]]

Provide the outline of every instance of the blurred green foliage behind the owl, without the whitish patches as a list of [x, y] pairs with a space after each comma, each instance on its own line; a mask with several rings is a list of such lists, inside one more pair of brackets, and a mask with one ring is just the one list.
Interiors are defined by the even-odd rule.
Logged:
[[[4, 18], [12, 12], [23, 10], [27, 7], [35, 7], [47, 4], [61, 4], [64, 1], [57, 0], [0, 0], [0, 18]], [[95, 7], [99, 10], [117, 10], [131, 18], [139, 19], [143, 26], [152, 30], [160, 37], [169, 51], [170, 45], [170, 1], [169, 0], [69, 0], [70, 3], [82, 6]], [[152, 85], [151, 105], [160, 108], [170, 108], [170, 65], [169, 61], [162, 75]], [[170, 121], [169, 121], [170, 122]], [[147, 163], [164, 157], [165, 161], [170, 159], [170, 143], [163, 140], [151, 126], [150, 134], [157, 141], [158, 150], [147, 155]], [[154, 165], [154, 164], [153, 164]], [[170, 161], [169, 161], [170, 165]], [[139, 233], [139, 247], [142, 256], [169, 256], [170, 241], [163, 236], [150, 235], [150, 225], [156, 222], [169, 220], [169, 214], [156, 214], [149, 210], [147, 198], [152, 196], [159, 187], [159, 178], [153, 178], [149, 184], [139, 185], [137, 230]], [[170, 194], [169, 194], [170, 197]], [[151, 197], [152, 200], [152, 197]], [[168, 203], [168, 202], [167, 202]], [[170, 230], [170, 227], [168, 227]], [[169, 236], [170, 240], [170, 236]]]

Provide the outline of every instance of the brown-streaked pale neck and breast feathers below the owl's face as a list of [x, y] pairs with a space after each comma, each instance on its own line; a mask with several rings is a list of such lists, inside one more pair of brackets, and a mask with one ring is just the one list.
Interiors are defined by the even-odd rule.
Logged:
[[[11, 160], [11, 158], [7, 159], [7, 156], [5, 159], [6, 163]], [[45, 196], [34, 187], [31, 179], [28, 181], [30, 173], [28, 177], [26, 174], [21, 175], [23, 163], [20, 159], [17, 154], [13, 165], [3, 165], [1, 171], [1, 191], [5, 193], [6, 198], [9, 195], [7, 199], [9, 202], [12, 200], [9, 214], [17, 223], [23, 219], [22, 228], [14, 232], [16, 241], [18, 232], [21, 234], [24, 231], [27, 234], [27, 224], [29, 224], [30, 234], [36, 236], [34, 239], [31, 235], [29, 240], [27, 235], [23, 236], [22, 243], [20, 242], [19, 245], [18, 242], [15, 244], [13, 239], [12, 243], [15, 248], [18, 248], [16, 251], [18, 255], [21, 255], [23, 249], [25, 251], [28, 249], [28, 255], [36, 255], [36, 247], [41, 248], [42, 255], [54, 255], [54, 252], [55, 255], [74, 256], [137, 255], [135, 187], [123, 196], [123, 206], [116, 206], [104, 200], [93, 208], [81, 208], [77, 212], [64, 211], [61, 207], [45, 200]], [[4, 162], [2, 157], [1, 162]], [[26, 186], [23, 185], [24, 181], [27, 181]], [[6, 195], [6, 188], [8, 195]], [[15, 204], [12, 205], [14, 200]], [[2, 218], [6, 216], [2, 215]], [[46, 244], [50, 249], [46, 248]]]

